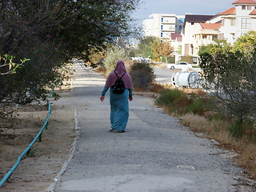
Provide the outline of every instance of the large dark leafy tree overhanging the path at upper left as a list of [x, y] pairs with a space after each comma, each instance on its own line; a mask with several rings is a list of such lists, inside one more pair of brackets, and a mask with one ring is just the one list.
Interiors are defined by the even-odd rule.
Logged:
[[[139, 0], [2, 0], [0, 55], [30, 58], [16, 74], [1, 75], [0, 102], [45, 100], [58, 67], [72, 57], [88, 60], [94, 47], [134, 34], [130, 13]], [[136, 32], [136, 31], [135, 31]], [[86, 55], [86, 57], [84, 56]]]

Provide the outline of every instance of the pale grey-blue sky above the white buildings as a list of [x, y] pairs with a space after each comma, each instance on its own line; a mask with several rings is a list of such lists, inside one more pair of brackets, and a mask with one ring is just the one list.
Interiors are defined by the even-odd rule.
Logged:
[[218, 14], [233, 7], [236, 0], [141, 0], [132, 16], [141, 23], [150, 14]]

